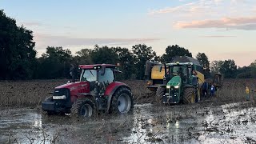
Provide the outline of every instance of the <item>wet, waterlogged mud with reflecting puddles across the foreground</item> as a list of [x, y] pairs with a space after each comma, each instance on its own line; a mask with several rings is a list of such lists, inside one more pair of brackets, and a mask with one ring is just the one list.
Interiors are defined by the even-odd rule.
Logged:
[[1, 110], [0, 143], [256, 143], [255, 110], [250, 102], [142, 104], [92, 119]]

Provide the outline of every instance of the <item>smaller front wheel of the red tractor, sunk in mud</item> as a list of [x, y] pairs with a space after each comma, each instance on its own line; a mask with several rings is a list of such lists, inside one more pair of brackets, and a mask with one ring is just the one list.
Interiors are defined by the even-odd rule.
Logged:
[[77, 118], [92, 118], [97, 114], [95, 103], [89, 98], [78, 98], [78, 100], [73, 103], [70, 111], [72, 116]]

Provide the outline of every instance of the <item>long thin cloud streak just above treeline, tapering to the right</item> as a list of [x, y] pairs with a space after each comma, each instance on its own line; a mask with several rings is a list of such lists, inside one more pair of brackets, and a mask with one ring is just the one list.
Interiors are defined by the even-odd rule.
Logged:
[[35, 34], [34, 40], [38, 49], [45, 49], [46, 46], [123, 46], [136, 43], [155, 42], [161, 38], [72, 38], [62, 35]]

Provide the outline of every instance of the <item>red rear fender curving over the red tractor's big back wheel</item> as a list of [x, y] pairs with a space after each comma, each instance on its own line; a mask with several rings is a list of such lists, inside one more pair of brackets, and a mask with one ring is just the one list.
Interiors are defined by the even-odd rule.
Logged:
[[112, 82], [109, 86], [106, 87], [105, 96], [108, 97], [107, 104], [106, 104], [106, 113], [109, 113], [110, 104], [114, 93], [121, 87], [126, 87], [130, 90], [130, 87], [127, 86], [125, 83], [122, 82]]

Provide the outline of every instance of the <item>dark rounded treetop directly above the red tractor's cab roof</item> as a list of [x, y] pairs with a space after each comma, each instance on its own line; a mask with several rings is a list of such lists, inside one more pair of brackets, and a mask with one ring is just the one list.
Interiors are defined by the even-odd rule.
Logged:
[[91, 59], [94, 63], [110, 63], [115, 64], [118, 55], [114, 52], [114, 49], [108, 46], [99, 47], [95, 45], [94, 50], [91, 52]]

